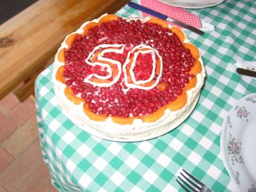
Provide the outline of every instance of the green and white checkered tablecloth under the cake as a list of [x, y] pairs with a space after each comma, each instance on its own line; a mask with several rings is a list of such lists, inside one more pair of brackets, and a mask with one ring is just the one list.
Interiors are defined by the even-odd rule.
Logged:
[[[236, 191], [220, 153], [221, 125], [232, 104], [256, 92], [256, 79], [236, 73], [234, 56], [255, 60], [256, 1], [227, 0], [189, 10], [215, 26], [204, 36], [186, 31], [202, 53], [207, 79], [200, 100], [177, 129], [153, 140], [120, 143], [91, 136], [61, 113], [52, 66], [36, 79], [36, 111], [44, 161], [60, 191], [179, 191], [181, 168], [212, 191]], [[128, 6], [122, 17], [140, 13]]]

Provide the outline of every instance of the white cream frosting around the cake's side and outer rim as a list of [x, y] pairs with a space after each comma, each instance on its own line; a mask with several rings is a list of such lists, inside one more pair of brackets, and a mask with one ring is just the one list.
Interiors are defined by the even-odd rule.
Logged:
[[[104, 15], [102, 15], [103, 17]], [[101, 18], [101, 17], [100, 17]], [[99, 22], [99, 19], [92, 20], [93, 22]], [[134, 18], [127, 20], [136, 20]], [[140, 20], [147, 21], [148, 18], [144, 18]], [[80, 29], [77, 29], [74, 33], [83, 33], [84, 26], [88, 24], [88, 22], [84, 23]], [[73, 34], [73, 33], [72, 33]], [[72, 35], [70, 34], [70, 35]], [[68, 36], [67, 36], [68, 38]], [[67, 39], [66, 38], [66, 39]], [[65, 39], [65, 40], [66, 40]], [[61, 44], [61, 47], [58, 49], [58, 52], [63, 48], [68, 48], [67, 44], [64, 42]], [[188, 37], [185, 35], [185, 43], [189, 43]], [[200, 96], [200, 89], [204, 84], [205, 77], [205, 68], [202, 61], [202, 58], [198, 59], [202, 65], [202, 72], [196, 74], [197, 82], [195, 88], [188, 90], [186, 93], [188, 95], [188, 100], [186, 105], [179, 109], [178, 111], [170, 111], [170, 109], [166, 109], [164, 115], [159, 118], [156, 122], [153, 123], [144, 123], [141, 119], [136, 119], [134, 122], [129, 125], [120, 125], [115, 124], [111, 117], [108, 117], [104, 122], [97, 122], [94, 120], [90, 120], [88, 116], [85, 115], [83, 111], [83, 103], [79, 105], [73, 104], [64, 94], [64, 89], [66, 84], [61, 83], [56, 80], [56, 72], [58, 68], [64, 63], [58, 61], [58, 52], [55, 57], [54, 67], [52, 72], [52, 83], [54, 86], [54, 91], [56, 94], [56, 99], [58, 100], [58, 104], [60, 108], [63, 109], [63, 113], [74, 122], [78, 127], [83, 129], [94, 136], [99, 138], [104, 138], [106, 140], [114, 140], [114, 141], [141, 141], [148, 140], [150, 138], [155, 138], [157, 136], [161, 136], [162, 134], [175, 129], [178, 125], [180, 125], [184, 120], [191, 114], [193, 109], [198, 102]]]

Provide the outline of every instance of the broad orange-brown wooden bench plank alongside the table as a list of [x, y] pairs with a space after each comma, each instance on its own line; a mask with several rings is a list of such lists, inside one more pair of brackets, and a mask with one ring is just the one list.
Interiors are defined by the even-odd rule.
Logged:
[[63, 38], [86, 20], [115, 13], [123, 0], [40, 0], [0, 26], [0, 99], [33, 76]]

